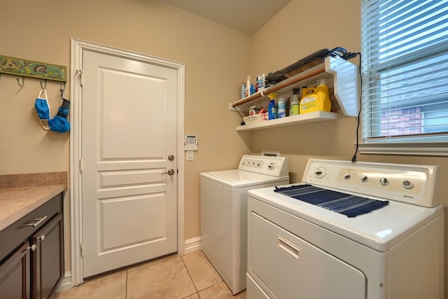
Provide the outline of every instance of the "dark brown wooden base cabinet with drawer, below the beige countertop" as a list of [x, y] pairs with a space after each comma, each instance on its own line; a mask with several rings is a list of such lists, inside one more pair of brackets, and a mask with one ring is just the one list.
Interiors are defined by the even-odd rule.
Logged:
[[0, 297], [49, 298], [64, 274], [62, 193], [0, 232]]

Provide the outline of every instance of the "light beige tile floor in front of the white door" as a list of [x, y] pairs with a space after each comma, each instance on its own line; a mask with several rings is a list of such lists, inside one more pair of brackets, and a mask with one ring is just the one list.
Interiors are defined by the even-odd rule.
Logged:
[[204, 253], [198, 250], [104, 274], [52, 296], [52, 299], [78, 298], [246, 299], [246, 291], [232, 295]]

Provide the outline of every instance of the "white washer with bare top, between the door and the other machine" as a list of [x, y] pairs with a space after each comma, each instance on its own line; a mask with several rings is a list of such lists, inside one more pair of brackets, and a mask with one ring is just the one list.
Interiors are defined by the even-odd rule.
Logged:
[[286, 157], [243, 155], [238, 169], [200, 174], [201, 249], [233, 294], [246, 288], [247, 192], [286, 183]]

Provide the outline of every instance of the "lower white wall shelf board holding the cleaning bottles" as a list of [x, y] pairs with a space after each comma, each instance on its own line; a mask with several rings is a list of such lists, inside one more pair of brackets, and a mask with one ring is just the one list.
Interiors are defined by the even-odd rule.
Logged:
[[237, 131], [255, 131], [271, 129], [273, 127], [286, 127], [288, 125], [300, 125], [304, 123], [318, 123], [327, 120], [336, 120], [338, 118], [335, 112], [314, 111], [310, 113], [299, 114], [297, 116], [288, 116], [286, 118], [277, 118], [274, 120], [265, 120], [260, 123], [251, 123], [248, 125], [239, 125]]

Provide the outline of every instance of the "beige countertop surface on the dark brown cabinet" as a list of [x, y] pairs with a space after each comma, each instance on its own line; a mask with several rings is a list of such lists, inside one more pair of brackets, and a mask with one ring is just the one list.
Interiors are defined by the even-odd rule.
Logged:
[[66, 184], [0, 189], [0, 230], [66, 190]]

